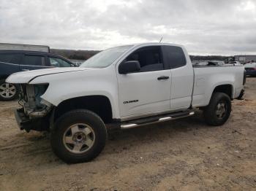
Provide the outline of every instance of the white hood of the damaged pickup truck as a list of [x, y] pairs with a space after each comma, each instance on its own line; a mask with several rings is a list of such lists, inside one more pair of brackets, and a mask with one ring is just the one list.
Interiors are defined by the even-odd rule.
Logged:
[[32, 79], [36, 77], [41, 77], [50, 74], [59, 74], [59, 73], [66, 73], [66, 72], [75, 72], [75, 71], [84, 71], [88, 70], [85, 68], [53, 68], [53, 69], [38, 69], [32, 71], [20, 71], [10, 75], [6, 82], [12, 84], [25, 84], [29, 83]]

